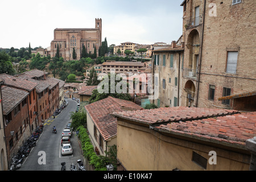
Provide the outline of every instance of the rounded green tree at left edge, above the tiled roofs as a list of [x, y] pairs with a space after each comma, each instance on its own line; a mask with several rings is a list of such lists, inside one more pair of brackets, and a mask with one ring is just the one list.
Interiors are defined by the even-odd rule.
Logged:
[[14, 75], [15, 69], [13, 64], [11, 64], [11, 57], [7, 55], [6, 52], [0, 52], [0, 73], [7, 73], [9, 75]]

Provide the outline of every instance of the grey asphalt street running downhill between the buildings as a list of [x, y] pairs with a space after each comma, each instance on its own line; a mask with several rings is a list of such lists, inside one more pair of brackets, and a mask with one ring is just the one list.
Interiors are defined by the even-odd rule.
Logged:
[[[55, 119], [51, 118], [44, 123], [43, 133], [40, 135], [36, 146], [31, 149], [30, 155], [24, 160], [22, 167], [18, 171], [60, 171], [61, 162], [66, 163], [66, 170], [70, 171], [72, 163], [77, 164], [77, 160], [84, 162], [81, 153], [76, 131], [73, 131], [71, 137], [72, 155], [61, 155], [60, 142], [61, 133], [71, 121], [70, 115], [76, 110], [77, 102], [68, 99], [68, 106], [61, 111]], [[52, 133], [53, 126], [56, 126], [57, 134]]]

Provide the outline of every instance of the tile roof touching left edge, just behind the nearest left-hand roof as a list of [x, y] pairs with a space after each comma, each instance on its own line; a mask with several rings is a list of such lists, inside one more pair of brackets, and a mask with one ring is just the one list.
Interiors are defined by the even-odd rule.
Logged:
[[36, 85], [38, 85], [35, 82], [31, 82], [28, 80], [24, 80], [23, 78], [18, 78], [6, 74], [0, 74], [0, 78], [5, 81], [5, 85], [7, 86], [13, 86], [15, 88], [24, 89], [29, 92], [35, 89]]

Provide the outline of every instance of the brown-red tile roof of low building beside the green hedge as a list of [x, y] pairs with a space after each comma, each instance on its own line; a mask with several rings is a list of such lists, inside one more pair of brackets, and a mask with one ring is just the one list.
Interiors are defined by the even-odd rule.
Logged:
[[142, 107], [131, 101], [113, 97], [108, 97], [85, 106], [90, 118], [92, 118], [94, 125], [96, 125], [104, 140], [117, 135], [117, 118], [110, 114], [116, 111], [122, 111], [125, 108], [132, 110], [142, 109]]

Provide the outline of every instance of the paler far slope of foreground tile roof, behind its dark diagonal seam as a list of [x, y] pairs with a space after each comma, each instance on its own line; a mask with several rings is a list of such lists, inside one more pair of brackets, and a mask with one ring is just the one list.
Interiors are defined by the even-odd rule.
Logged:
[[199, 107], [161, 107], [158, 109], [143, 109], [136, 111], [115, 112], [113, 115], [146, 124], [195, 119], [209, 116], [218, 116], [228, 113], [237, 113], [235, 110], [208, 109]]

